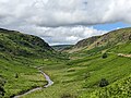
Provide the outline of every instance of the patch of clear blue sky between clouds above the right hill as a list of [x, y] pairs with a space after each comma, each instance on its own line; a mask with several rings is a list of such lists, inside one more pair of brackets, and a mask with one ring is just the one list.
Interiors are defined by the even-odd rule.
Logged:
[[110, 23], [110, 24], [99, 24], [99, 25], [94, 25], [93, 26], [96, 29], [100, 29], [100, 30], [114, 30], [117, 28], [124, 28], [124, 27], [131, 27], [131, 24], [126, 24], [122, 22], [118, 22], [118, 23]]

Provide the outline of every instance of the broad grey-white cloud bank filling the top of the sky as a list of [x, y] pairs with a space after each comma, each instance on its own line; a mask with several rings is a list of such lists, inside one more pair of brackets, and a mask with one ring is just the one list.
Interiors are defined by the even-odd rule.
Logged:
[[0, 0], [1, 16], [38, 26], [131, 22], [131, 0]]

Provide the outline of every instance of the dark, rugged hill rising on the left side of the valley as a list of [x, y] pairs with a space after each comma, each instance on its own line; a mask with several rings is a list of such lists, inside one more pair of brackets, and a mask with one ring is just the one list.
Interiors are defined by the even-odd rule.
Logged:
[[53, 49], [37, 36], [0, 28], [0, 52], [14, 56], [48, 56]]

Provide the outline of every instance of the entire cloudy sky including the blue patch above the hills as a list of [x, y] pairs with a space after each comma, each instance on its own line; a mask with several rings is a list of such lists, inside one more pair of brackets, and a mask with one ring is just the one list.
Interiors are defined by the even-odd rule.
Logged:
[[41, 37], [50, 45], [131, 26], [131, 0], [0, 0], [0, 27]]

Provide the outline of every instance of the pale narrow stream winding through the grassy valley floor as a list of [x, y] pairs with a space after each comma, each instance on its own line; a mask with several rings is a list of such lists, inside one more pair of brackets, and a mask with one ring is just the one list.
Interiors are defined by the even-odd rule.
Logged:
[[24, 93], [22, 95], [14, 96], [13, 98], [21, 98], [21, 97], [23, 97], [25, 95], [28, 95], [28, 94], [32, 94], [32, 93], [34, 93], [36, 90], [40, 90], [43, 88], [47, 88], [47, 87], [49, 87], [49, 86], [51, 86], [53, 84], [53, 82], [50, 79], [50, 77], [46, 73], [44, 73], [41, 70], [39, 70], [39, 72], [44, 75], [44, 77], [46, 78], [46, 81], [48, 82], [48, 84], [45, 85], [44, 87], [33, 88], [33, 89], [31, 89], [31, 90], [28, 90], [28, 91], [26, 91], [26, 93]]

